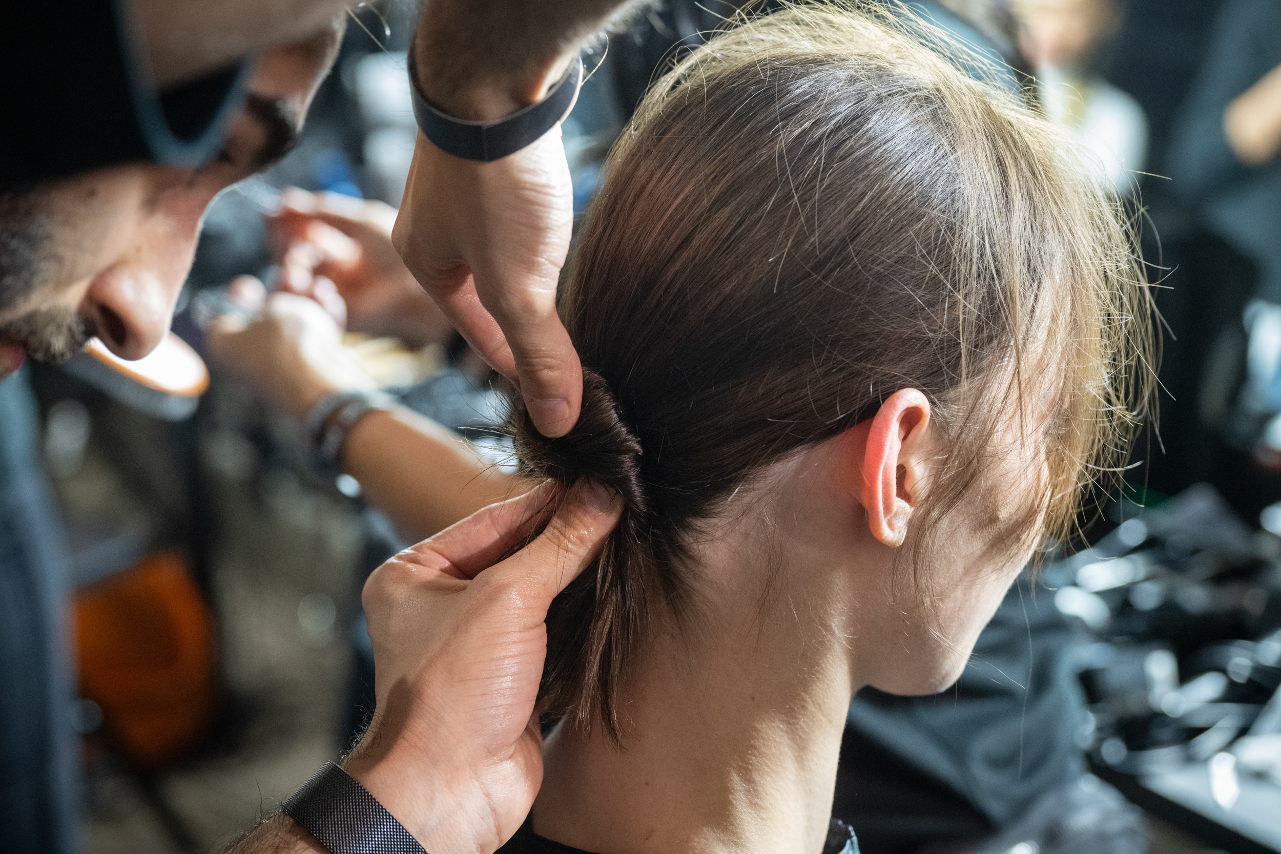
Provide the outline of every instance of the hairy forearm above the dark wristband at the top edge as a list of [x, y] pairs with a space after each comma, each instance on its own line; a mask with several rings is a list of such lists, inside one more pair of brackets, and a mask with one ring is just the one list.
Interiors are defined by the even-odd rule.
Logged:
[[642, 0], [427, 0], [414, 37], [428, 99], [494, 120], [537, 101], [565, 63]]

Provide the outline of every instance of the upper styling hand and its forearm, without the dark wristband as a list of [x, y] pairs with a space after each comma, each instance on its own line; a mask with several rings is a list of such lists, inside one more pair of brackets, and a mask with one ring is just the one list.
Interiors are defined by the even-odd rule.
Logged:
[[[419, 86], [459, 119], [493, 122], [539, 100], [582, 46], [637, 0], [428, 0], [411, 50]], [[583, 374], [556, 315], [573, 187], [560, 131], [492, 163], [420, 133], [396, 248], [468, 342], [520, 388], [534, 424], [564, 435]]]

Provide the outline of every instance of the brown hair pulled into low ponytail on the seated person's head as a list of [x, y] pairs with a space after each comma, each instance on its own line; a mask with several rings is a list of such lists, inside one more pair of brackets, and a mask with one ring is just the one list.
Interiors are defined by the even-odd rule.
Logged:
[[[875, 6], [789, 6], [679, 61], [623, 132], [561, 306], [582, 417], [547, 439], [519, 398], [511, 416], [532, 474], [624, 499], [547, 615], [550, 714], [617, 739], [629, 656], [692, 615], [699, 522], [897, 389], [929, 397], [947, 447], [907, 558], [962, 501], [990, 508], [993, 557], [1067, 539], [1082, 488], [1123, 466], [1152, 309], [1122, 216], [1072, 142], [929, 38]], [[1012, 517], [981, 475], [1016, 419], [1047, 465]]]

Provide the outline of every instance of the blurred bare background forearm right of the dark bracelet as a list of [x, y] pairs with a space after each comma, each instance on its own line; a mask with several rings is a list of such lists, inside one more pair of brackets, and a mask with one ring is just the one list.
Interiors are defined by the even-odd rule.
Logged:
[[411, 540], [519, 492], [456, 434], [410, 410], [377, 410], [352, 428], [343, 471]]

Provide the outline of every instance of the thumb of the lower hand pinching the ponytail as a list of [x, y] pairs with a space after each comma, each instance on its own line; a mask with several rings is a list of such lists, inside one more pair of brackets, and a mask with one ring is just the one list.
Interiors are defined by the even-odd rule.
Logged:
[[579, 480], [543, 533], [491, 572], [498, 570], [496, 575], [528, 597], [530, 607], [546, 612], [556, 594], [601, 553], [621, 512], [623, 499], [616, 493], [600, 483]]

